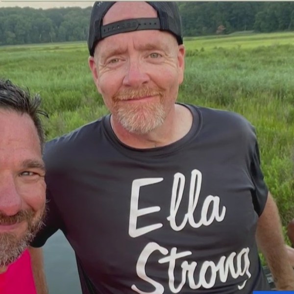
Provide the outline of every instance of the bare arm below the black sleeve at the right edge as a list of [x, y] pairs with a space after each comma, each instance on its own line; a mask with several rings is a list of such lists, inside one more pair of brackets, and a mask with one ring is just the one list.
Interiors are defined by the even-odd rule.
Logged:
[[256, 240], [267, 260], [277, 290], [294, 290], [294, 270], [285, 247], [278, 209], [270, 193], [257, 223]]

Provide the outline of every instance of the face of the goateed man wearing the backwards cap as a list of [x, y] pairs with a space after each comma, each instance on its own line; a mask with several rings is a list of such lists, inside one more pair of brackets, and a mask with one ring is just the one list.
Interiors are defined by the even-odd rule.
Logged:
[[[103, 25], [149, 17], [157, 12], [146, 2], [117, 2]], [[89, 65], [113, 120], [130, 133], [146, 134], [171, 116], [183, 80], [184, 47], [159, 30], [120, 33], [98, 43]]]

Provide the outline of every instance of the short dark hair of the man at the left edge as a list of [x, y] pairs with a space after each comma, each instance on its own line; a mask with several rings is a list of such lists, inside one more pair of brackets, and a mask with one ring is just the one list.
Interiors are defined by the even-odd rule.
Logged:
[[28, 89], [22, 89], [14, 85], [10, 80], [0, 79], [0, 109], [16, 111], [20, 114], [27, 114], [32, 119], [40, 139], [41, 147], [45, 142], [45, 135], [39, 115], [48, 118], [48, 114], [39, 109], [41, 97], [31, 96]]

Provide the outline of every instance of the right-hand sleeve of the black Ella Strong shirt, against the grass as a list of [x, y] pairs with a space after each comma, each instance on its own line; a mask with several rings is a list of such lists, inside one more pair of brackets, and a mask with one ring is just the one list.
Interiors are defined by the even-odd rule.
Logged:
[[252, 202], [254, 210], [260, 216], [265, 208], [268, 199], [268, 187], [264, 181], [264, 175], [260, 167], [260, 155], [258, 143], [255, 137], [255, 147], [253, 149], [253, 154], [250, 163], [250, 174], [251, 179], [254, 184], [254, 190], [251, 191]]

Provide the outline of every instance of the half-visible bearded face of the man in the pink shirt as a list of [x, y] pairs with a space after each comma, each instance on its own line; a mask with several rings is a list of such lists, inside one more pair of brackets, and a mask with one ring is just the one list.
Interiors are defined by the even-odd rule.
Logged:
[[0, 134], [0, 267], [5, 267], [39, 229], [46, 185], [40, 141], [30, 117], [0, 109]]

